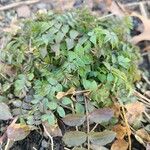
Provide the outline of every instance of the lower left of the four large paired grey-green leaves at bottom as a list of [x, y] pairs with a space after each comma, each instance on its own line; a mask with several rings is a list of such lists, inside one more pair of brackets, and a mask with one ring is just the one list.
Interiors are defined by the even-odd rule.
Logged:
[[81, 131], [70, 131], [66, 132], [63, 141], [64, 143], [69, 146], [80, 146], [86, 141], [87, 135]]

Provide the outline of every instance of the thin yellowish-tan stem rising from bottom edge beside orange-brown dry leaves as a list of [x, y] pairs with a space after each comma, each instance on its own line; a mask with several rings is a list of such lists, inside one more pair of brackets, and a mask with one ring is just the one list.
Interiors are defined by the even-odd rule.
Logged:
[[127, 134], [128, 134], [128, 141], [129, 141], [129, 150], [131, 150], [132, 145], [131, 145], [131, 137], [130, 137], [130, 133], [129, 133], [130, 126], [129, 126], [129, 124], [128, 124], [128, 120], [127, 120], [127, 118], [126, 118], [126, 114], [125, 114], [124, 106], [121, 106], [121, 108], [122, 108], [122, 112], [123, 112], [123, 116], [124, 116], [125, 124], [126, 124], [126, 126], [127, 126], [127, 128], [128, 128], [128, 130], [127, 130]]

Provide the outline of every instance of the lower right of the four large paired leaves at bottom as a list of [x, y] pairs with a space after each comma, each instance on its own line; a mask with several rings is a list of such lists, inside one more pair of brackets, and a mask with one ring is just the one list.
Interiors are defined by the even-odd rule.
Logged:
[[115, 139], [115, 136], [116, 136], [116, 134], [113, 131], [90, 132], [89, 140], [93, 144], [103, 146], [108, 143], [111, 143]]

